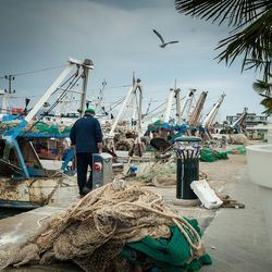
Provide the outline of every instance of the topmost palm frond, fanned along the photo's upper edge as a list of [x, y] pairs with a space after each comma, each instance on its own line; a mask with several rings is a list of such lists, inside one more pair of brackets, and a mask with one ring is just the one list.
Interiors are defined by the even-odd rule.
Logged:
[[271, 8], [271, 0], [175, 0], [180, 13], [233, 26], [255, 21]]

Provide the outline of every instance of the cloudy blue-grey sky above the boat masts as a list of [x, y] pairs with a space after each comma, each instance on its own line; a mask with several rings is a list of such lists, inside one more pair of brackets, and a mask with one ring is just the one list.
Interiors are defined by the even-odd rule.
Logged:
[[[165, 40], [159, 47], [152, 29]], [[132, 75], [141, 79], [144, 104], [151, 109], [165, 101], [176, 86], [184, 97], [196, 88], [196, 98], [208, 91], [203, 114], [224, 92], [219, 113], [260, 114], [261, 97], [252, 89], [258, 78], [254, 71], [240, 73], [240, 61], [231, 67], [218, 63], [214, 50], [227, 36], [226, 26], [177, 13], [174, 0], [0, 0], [0, 88], [8, 87], [4, 75], [21, 74], [65, 65], [69, 58], [91, 59], [88, 97], [107, 82], [104, 100], [124, 97]], [[12, 88], [17, 97], [32, 97], [34, 104], [63, 67], [15, 76]], [[14, 99], [18, 107], [22, 100]]]

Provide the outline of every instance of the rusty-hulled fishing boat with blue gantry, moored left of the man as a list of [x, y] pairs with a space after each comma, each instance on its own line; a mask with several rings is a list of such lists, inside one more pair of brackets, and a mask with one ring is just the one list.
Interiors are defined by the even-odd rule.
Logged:
[[[75, 177], [67, 176], [73, 165], [62, 161], [67, 148], [69, 127], [46, 123], [38, 111], [53, 99], [52, 110], [67, 94], [74, 94], [82, 79], [78, 116], [86, 107], [86, 90], [92, 62], [70, 59], [66, 67], [29, 111], [0, 124], [0, 206], [37, 208], [76, 196]], [[49, 113], [49, 111], [48, 111]], [[47, 144], [45, 146], [45, 143]], [[44, 146], [42, 146], [44, 145]], [[66, 146], [65, 146], [66, 145]]]

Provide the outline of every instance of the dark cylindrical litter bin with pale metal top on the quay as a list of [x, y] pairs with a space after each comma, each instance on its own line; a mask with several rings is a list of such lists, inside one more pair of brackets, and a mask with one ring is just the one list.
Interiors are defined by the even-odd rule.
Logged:
[[178, 137], [175, 139], [176, 153], [176, 198], [197, 199], [190, 184], [199, 180], [199, 152], [201, 138]]

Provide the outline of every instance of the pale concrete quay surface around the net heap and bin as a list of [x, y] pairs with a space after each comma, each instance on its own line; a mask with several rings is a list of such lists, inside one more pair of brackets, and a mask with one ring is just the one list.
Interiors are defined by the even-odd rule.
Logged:
[[[232, 199], [246, 206], [245, 209], [220, 208], [207, 210], [202, 207], [175, 206], [175, 188], [150, 187], [163, 195], [166, 205], [180, 214], [196, 218], [203, 231], [203, 242], [213, 264], [203, 267], [209, 272], [272, 272], [272, 246], [256, 185], [248, 178], [246, 157], [231, 154], [228, 160], [213, 163], [200, 163], [200, 171], [206, 173], [210, 185], [220, 194], [230, 195]], [[75, 195], [76, 196], [76, 195]], [[75, 197], [76, 198], [76, 197]], [[42, 207], [0, 221], [1, 243], [13, 239], [23, 243], [37, 230], [46, 217], [65, 209], [62, 207]], [[33, 265], [21, 269], [9, 268], [5, 271], [81, 271], [73, 263], [60, 263], [50, 267]]]

